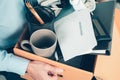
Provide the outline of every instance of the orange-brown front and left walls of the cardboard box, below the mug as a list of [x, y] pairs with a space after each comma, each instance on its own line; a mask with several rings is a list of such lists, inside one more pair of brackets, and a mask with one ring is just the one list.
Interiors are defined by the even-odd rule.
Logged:
[[[17, 44], [14, 47], [14, 53], [16, 55], [19, 55], [21, 57], [24, 57], [24, 58], [27, 58], [27, 59], [30, 59], [30, 60], [39, 60], [39, 61], [48, 63], [50, 65], [62, 68], [64, 70], [64, 72], [61, 74], [61, 75], [63, 75], [63, 77], [59, 77], [58, 80], [80, 80], [80, 79], [81, 80], [91, 80], [92, 79], [92, 77], [93, 77], [92, 72], [88, 72], [88, 71], [85, 71], [85, 70], [82, 70], [82, 69], [78, 69], [78, 68], [75, 68], [75, 67], [72, 67], [72, 66], [69, 66], [69, 65], [59, 63], [57, 61], [53, 61], [53, 60], [50, 60], [50, 59], [47, 59], [47, 58], [43, 58], [43, 57], [37, 56], [33, 53], [29, 53], [29, 52], [26, 52], [26, 51], [20, 49], [19, 43], [21, 42], [22, 39], [24, 39], [24, 35], [27, 32], [26, 30], [27, 29], [24, 30], [24, 32], [21, 35], [19, 41], [17, 42]], [[29, 75], [25, 75], [25, 76], [22, 76], [22, 77], [26, 78], [27, 80], [32, 80], [32, 78]]]

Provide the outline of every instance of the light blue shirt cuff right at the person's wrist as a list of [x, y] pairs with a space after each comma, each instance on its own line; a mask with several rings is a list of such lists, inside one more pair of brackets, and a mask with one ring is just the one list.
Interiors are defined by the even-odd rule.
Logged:
[[11, 55], [7, 71], [18, 73], [19, 75], [24, 75], [27, 70], [29, 62], [30, 61], [27, 59]]

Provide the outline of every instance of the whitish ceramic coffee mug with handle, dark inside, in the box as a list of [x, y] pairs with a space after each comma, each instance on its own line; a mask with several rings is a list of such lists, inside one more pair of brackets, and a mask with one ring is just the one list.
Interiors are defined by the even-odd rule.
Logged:
[[35, 54], [42, 57], [51, 57], [56, 49], [57, 37], [51, 30], [40, 29], [32, 33], [30, 40], [21, 41], [21, 48], [31, 51], [30, 48], [25, 46], [26, 44], [31, 46]]

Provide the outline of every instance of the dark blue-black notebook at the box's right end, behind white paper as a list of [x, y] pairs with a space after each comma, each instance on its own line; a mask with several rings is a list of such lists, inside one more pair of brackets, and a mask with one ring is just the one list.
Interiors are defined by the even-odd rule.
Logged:
[[[110, 54], [115, 1], [101, 2], [92, 14], [94, 33], [97, 39], [96, 53]], [[93, 53], [95, 53], [93, 51]]]

